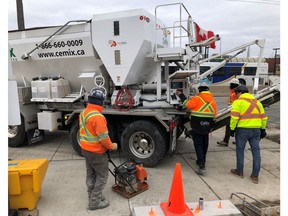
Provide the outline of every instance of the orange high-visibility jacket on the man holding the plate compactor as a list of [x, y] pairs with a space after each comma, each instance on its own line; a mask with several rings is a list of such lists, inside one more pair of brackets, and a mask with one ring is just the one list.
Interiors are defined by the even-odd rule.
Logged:
[[81, 148], [99, 154], [113, 147], [102, 109], [101, 106], [88, 104], [79, 115]]

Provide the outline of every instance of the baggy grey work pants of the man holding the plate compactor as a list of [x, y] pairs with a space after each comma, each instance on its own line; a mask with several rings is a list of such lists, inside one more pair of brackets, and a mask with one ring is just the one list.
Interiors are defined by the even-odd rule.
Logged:
[[86, 162], [86, 185], [89, 205], [97, 205], [101, 201], [102, 191], [108, 180], [108, 157], [82, 150]]

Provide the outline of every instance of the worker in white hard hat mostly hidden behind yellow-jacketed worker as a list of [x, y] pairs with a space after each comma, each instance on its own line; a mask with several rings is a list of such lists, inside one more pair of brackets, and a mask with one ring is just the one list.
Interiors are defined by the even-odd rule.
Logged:
[[[233, 101], [236, 100], [236, 94], [234, 92], [235, 88], [239, 86], [239, 80], [237, 78], [233, 78], [230, 81], [230, 94], [228, 97], [228, 106], [232, 105]], [[223, 141], [217, 142], [219, 146], [228, 146], [229, 145], [229, 139], [230, 139], [230, 118], [228, 120], [228, 123], [225, 128], [225, 136]]]

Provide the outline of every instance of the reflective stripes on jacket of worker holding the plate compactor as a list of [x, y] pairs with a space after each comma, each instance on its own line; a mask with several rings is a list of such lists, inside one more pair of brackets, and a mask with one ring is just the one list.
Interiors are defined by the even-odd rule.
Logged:
[[[94, 136], [93, 134], [91, 134], [91, 132], [85, 127], [86, 122], [88, 121], [88, 119], [90, 119], [91, 117], [94, 116], [102, 116], [101, 113], [96, 112], [96, 111], [92, 111], [89, 112], [85, 117], [84, 117], [84, 112], [82, 112], [80, 114], [80, 141], [85, 141], [85, 142], [90, 142], [90, 143], [96, 143], [99, 142], [101, 140], [104, 140], [108, 137], [108, 131], [102, 133], [102, 134], [98, 134], [97, 136]], [[81, 134], [81, 130], [84, 130], [85, 134]]]

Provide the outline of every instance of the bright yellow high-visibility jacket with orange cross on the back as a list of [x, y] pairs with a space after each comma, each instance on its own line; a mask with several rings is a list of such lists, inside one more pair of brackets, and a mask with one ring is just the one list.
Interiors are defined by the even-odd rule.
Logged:
[[235, 130], [236, 127], [265, 129], [267, 119], [262, 103], [249, 93], [240, 95], [232, 104], [231, 130]]

